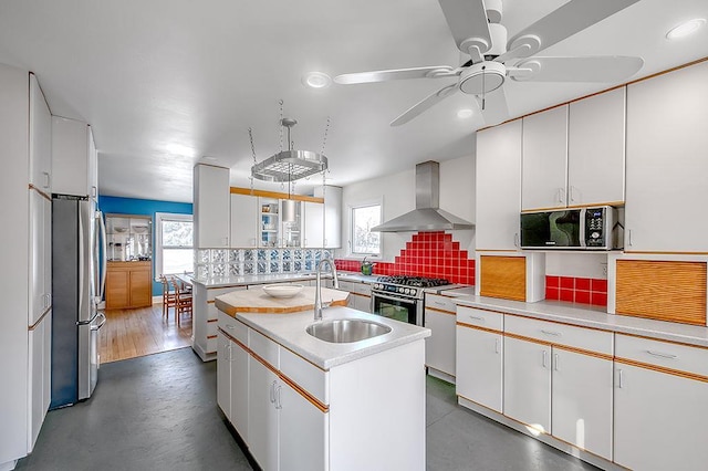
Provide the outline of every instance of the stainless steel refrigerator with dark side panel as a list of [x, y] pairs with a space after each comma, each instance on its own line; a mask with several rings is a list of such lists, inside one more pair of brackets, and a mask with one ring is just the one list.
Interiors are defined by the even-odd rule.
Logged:
[[86, 197], [52, 198], [52, 400], [87, 399], [98, 380], [98, 305], [105, 287], [105, 226]]

